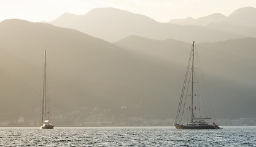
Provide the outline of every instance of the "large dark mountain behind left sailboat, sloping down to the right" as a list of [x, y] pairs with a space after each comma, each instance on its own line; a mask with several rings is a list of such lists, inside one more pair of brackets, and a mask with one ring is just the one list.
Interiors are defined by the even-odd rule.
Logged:
[[[1, 103], [1, 120], [24, 116], [26, 121], [33, 121], [40, 117], [45, 47], [55, 122], [169, 118], [172, 102], [165, 93], [171, 81], [155, 77], [175, 73], [177, 67], [161, 66], [151, 59], [133, 56], [74, 29], [5, 20], [0, 23], [0, 31], [4, 57], [0, 69], [5, 78], [2, 85], [6, 86], [0, 96], [5, 102]], [[153, 92], [156, 88], [161, 89]], [[163, 99], [155, 99], [158, 96]], [[77, 115], [71, 115], [74, 112]]]

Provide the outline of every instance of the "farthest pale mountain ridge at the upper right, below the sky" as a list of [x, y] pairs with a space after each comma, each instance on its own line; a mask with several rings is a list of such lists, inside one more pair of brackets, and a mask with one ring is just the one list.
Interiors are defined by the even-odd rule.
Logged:
[[217, 31], [231, 32], [244, 37], [256, 37], [256, 9], [244, 7], [235, 10], [228, 17], [220, 13], [200, 17], [198, 19], [186, 18], [170, 20], [169, 23], [177, 25], [204, 26]]

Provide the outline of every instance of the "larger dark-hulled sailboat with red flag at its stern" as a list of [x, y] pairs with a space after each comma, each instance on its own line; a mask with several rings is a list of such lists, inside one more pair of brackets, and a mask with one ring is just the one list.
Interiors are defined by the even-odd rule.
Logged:
[[[199, 59], [197, 61], [195, 59], [195, 41], [193, 41], [174, 126], [176, 129], [222, 129], [214, 122], [210, 124], [206, 121], [211, 119], [211, 114], [209, 113], [212, 107], [204, 106], [205, 111], [201, 110], [201, 105], [211, 104], [211, 100], [207, 99], [207, 92], [205, 95], [201, 95], [200, 86], [206, 87], [206, 83], [203, 78], [203, 71], [201, 71], [201, 74], [196, 71], [198, 68], [200, 68], [200, 63]], [[200, 79], [202, 84], [200, 84]], [[200, 100], [203, 102], [200, 103]], [[182, 124], [185, 121], [187, 123]]]

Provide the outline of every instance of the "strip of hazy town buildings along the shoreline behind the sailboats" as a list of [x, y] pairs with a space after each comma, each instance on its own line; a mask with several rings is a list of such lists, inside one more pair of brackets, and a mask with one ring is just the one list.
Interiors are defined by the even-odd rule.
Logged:
[[[137, 117], [104, 118], [103, 116], [76, 119], [69, 121], [54, 121], [58, 127], [107, 127], [107, 126], [173, 126], [174, 119], [144, 119]], [[104, 121], [103, 121], [104, 120]], [[216, 119], [219, 126], [256, 126], [256, 118]], [[16, 120], [0, 121], [0, 127], [36, 127], [40, 126], [39, 120], [26, 120], [20, 116]]]

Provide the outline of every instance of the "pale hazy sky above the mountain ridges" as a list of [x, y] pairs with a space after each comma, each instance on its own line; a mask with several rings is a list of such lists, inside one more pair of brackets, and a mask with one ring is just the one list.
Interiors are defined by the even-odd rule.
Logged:
[[0, 0], [0, 21], [10, 18], [52, 21], [64, 12], [84, 15], [97, 7], [115, 7], [167, 22], [217, 12], [227, 16], [247, 6], [256, 7], [256, 0]]

